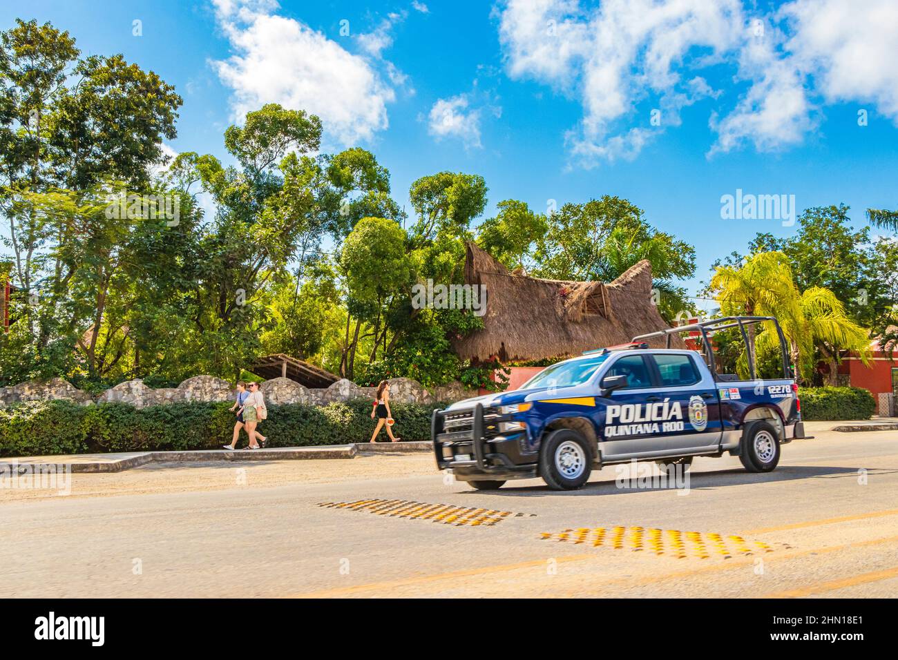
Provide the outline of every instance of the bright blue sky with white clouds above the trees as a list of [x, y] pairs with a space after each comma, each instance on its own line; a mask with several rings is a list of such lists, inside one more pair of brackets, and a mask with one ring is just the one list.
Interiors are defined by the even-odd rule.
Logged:
[[[603, 194], [691, 242], [695, 286], [779, 219], [721, 218], [736, 189], [798, 209], [898, 207], [898, 4], [870, 0], [6, 3], [84, 54], [120, 52], [184, 98], [174, 151], [277, 101], [411, 181], [479, 173], [495, 204]], [[141, 34], [136, 36], [135, 21]], [[342, 33], [341, 33], [342, 32]], [[660, 122], [653, 124], [653, 110]], [[858, 111], [867, 125], [858, 125]], [[409, 208], [410, 211], [410, 208]]]

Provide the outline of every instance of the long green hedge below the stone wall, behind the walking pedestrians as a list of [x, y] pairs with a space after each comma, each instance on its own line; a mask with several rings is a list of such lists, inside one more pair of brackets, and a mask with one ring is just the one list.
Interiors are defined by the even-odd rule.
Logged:
[[[0, 456], [217, 449], [231, 441], [231, 405], [192, 401], [136, 409], [125, 403], [17, 403], [0, 409]], [[392, 403], [393, 432], [403, 440], [429, 440], [431, 412], [443, 407]], [[269, 406], [260, 431], [269, 447], [368, 442], [374, 431], [371, 401]], [[387, 439], [386, 431], [379, 439]], [[243, 432], [241, 444], [246, 444]]]

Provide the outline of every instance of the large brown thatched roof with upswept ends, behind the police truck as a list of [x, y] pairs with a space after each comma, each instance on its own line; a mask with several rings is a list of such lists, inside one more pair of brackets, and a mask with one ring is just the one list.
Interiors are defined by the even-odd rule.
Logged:
[[[511, 273], [469, 242], [464, 279], [486, 286], [485, 328], [453, 341], [458, 355], [475, 363], [575, 356], [669, 327], [652, 303], [647, 260], [609, 284], [565, 282]], [[664, 348], [663, 342], [652, 346]], [[679, 338], [672, 346], [684, 348]]]

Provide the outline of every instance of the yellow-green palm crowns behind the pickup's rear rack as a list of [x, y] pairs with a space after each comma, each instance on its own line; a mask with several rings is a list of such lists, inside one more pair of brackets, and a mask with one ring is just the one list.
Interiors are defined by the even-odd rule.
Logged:
[[[845, 306], [827, 288], [814, 286], [799, 294], [792, 268], [782, 252], [759, 252], [739, 267], [719, 267], [710, 288], [718, 292], [720, 310], [727, 315], [774, 316], [779, 319], [789, 345], [796, 379], [814, 368], [814, 348], [830, 365], [830, 384], [836, 383], [841, 350], [855, 351], [869, 364], [869, 331], [845, 313]], [[770, 326], [770, 327], [768, 327]], [[765, 324], [758, 347], [770, 349], [779, 343], [772, 324]], [[753, 327], [749, 345], [754, 352]]]

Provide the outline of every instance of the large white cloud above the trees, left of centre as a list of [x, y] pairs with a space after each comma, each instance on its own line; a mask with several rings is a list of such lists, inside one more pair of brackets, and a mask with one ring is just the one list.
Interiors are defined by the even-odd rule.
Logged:
[[233, 55], [213, 65], [222, 83], [233, 90], [235, 120], [277, 102], [318, 115], [326, 143], [351, 145], [387, 128], [386, 107], [395, 92], [374, 59], [350, 53], [304, 23], [278, 16], [273, 13], [277, 4], [270, 0], [214, 4]]

